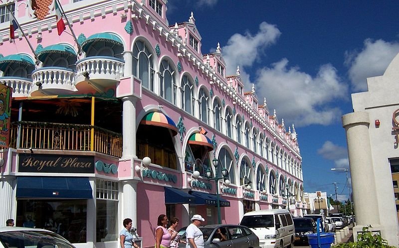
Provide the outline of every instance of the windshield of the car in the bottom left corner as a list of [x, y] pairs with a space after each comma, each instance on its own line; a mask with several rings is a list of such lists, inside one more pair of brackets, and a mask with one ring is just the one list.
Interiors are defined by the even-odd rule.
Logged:
[[74, 248], [61, 236], [44, 231], [10, 231], [0, 233], [4, 248]]

